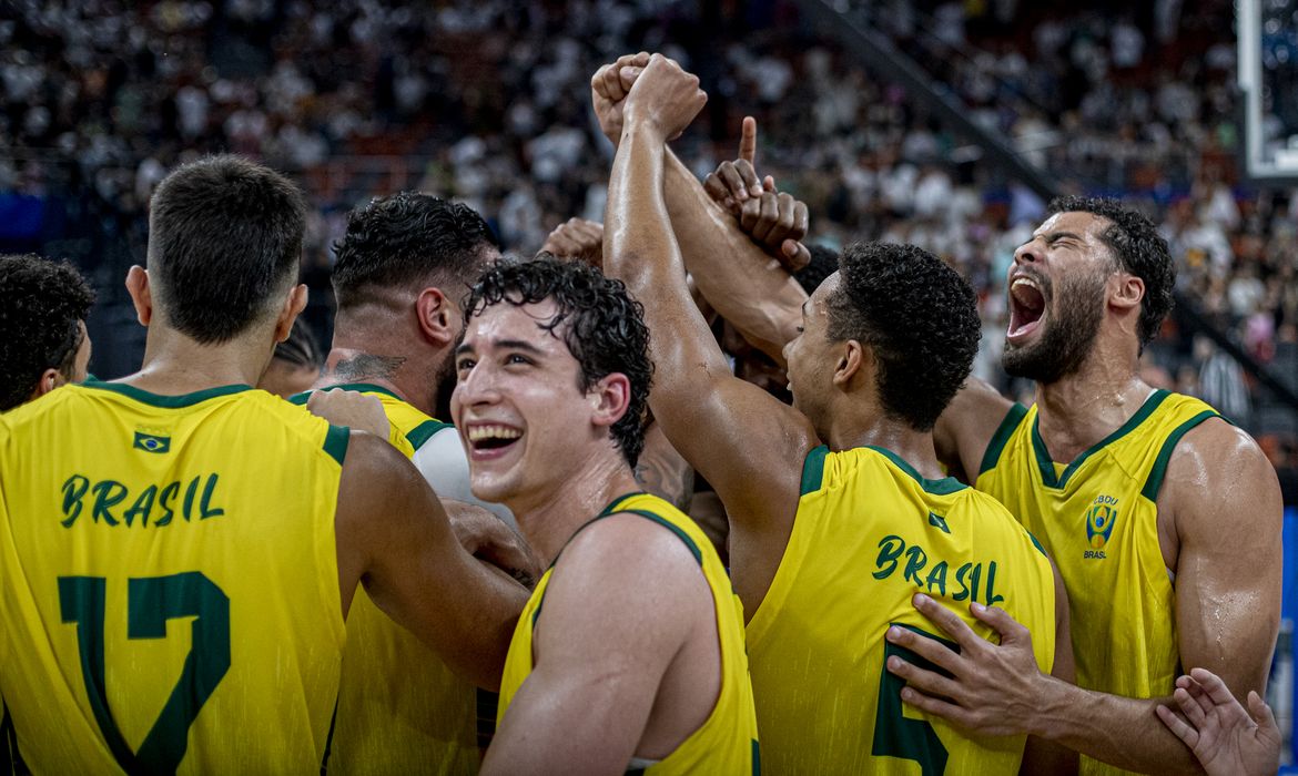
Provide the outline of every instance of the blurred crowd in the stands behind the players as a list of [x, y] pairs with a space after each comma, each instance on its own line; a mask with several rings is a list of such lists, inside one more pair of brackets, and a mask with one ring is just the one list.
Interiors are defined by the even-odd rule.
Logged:
[[[1298, 388], [1298, 196], [1241, 182], [1229, 0], [858, 5], [1062, 191], [1120, 195], [1160, 219], [1181, 289]], [[788, 0], [18, 0], [5, 14], [0, 240], [70, 256], [101, 285], [143, 257], [152, 187], [213, 151], [306, 188], [318, 300], [347, 210], [398, 188], [463, 200], [530, 253], [569, 217], [601, 218], [611, 147], [591, 74], [662, 51], [711, 97], [679, 143], [700, 175], [733, 158], [741, 117], [757, 117], [758, 170], [809, 204], [814, 239], [948, 258], [983, 298], [979, 374], [1022, 389], [994, 348], [1005, 269], [1042, 200]], [[1182, 321], [1150, 349], [1153, 379], [1273, 432], [1276, 454], [1292, 455], [1294, 413]], [[112, 349], [114, 333], [100, 341]]]

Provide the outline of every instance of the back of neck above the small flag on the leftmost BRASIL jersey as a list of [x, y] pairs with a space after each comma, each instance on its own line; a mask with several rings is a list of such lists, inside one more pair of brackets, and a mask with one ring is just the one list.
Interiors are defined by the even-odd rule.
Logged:
[[274, 337], [261, 330], [218, 345], [202, 345], [175, 330], [153, 324], [145, 339], [140, 371], [122, 382], [162, 396], [218, 385], [256, 385], [273, 354]]

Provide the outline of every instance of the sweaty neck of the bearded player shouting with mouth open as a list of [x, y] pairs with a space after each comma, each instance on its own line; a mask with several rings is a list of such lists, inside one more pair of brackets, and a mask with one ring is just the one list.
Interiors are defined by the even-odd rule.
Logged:
[[1075, 374], [1037, 383], [1041, 439], [1050, 455], [1072, 461], [1131, 419], [1150, 388], [1136, 374], [1134, 353], [1115, 352], [1097, 341]]

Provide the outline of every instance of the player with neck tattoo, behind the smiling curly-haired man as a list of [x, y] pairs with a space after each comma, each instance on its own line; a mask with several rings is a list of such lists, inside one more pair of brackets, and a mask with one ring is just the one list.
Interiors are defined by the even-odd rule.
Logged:
[[[459, 436], [434, 415], [447, 417], [439, 407], [454, 388], [461, 297], [500, 258], [487, 222], [467, 205], [400, 192], [349, 213], [335, 249], [337, 318], [317, 388], [375, 396], [388, 417], [389, 441], [437, 494], [482, 505], [470, 493]], [[291, 401], [304, 404], [308, 396]], [[508, 510], [484, 506], [513, 522]], [[476, 688], [363, 592], [347, 625], [332, 770], [344, 776], [476, 773]]]

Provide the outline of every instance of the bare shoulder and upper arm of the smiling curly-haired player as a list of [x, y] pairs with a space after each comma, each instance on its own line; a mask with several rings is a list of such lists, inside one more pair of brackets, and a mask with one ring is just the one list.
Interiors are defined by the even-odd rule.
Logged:
[[[533, 670], [482, 772], [622, 773], [637, 753], [668, 754], [715, 703], [715, 696], [659, 698], [687, 641], [714, 616], [698, 563], [663, 528], [614, 515], [582, 531], [550, 577]], [[718, 692], [719, 676], [718, 663]]]

